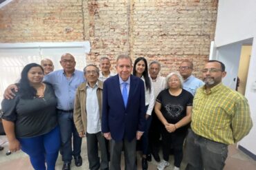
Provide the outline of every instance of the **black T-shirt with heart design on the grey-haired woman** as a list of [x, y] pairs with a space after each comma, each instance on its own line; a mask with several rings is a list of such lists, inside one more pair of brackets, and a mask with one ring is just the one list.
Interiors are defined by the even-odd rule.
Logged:
[[[161, 112], [168, 123], [177, 123], [186, 116], [187, 106], [192, 106], [193, 96], [190, 92], [182, 89], [179, 96], [172, 96], [169, 89], [164, 89], [156, 98], [161, 103]], [[188, 126], [181, 127], [176, 132], [184, 131]]]

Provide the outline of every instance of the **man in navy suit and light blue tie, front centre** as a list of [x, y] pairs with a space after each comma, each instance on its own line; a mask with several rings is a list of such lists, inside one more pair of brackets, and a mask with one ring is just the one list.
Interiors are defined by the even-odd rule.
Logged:
[[140, 78], [131, 75], [131, 63], [129, 56], [118, 56], [118, 74], [103, 85], [102, 132], [111, 140], [111, 170], [121, 169], [122, 148], [125, 169], [136, 169], [136, 140], [145, 130], [145, 87]]

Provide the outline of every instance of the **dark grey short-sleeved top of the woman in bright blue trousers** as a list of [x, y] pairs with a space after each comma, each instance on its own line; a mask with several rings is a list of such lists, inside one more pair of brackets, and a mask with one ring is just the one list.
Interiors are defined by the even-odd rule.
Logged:
[[17, 138], [29, 138], [51, 131], [57, 125], [57, 100], [51, 85], [46, 84], [43, 98], [24, 99], [19, 92], [1, 103], [4, 120], [15, 123]]

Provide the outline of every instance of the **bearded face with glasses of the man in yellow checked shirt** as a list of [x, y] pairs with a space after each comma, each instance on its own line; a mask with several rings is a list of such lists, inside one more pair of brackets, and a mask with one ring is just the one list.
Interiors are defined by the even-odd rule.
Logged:
[[203, 68], [203, 82], [207, 87], [214, 87], [221, 83], [226, 72], [221, 71], [221, 64], [218, 62], [206, 63]]

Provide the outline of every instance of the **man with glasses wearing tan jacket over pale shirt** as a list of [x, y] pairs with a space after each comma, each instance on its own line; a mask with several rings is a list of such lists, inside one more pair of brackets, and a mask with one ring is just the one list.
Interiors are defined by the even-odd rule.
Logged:
[[[101, 133], [103, 83], [98, 81], [100, 71], [96, 65], [84, 67], [86, 82], [77, 87], [74, 122], [81, 138], [86, 136], [89, 169], [109, 169], [105, 138]], [[101, 162], [98, 157], [100, 146]]]

